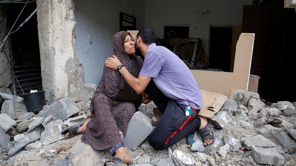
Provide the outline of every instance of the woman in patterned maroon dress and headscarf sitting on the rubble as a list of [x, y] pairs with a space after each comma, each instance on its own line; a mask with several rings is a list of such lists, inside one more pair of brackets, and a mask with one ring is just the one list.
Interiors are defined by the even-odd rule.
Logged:
[[[135, 42], [128, 32], [120, 31], [114, 35], [111, 57], [115, 55], [133, 76], [138, 77], [143, 61], [134, 53]], [[124, 149], [119, 132], [126, 134], [127, 125], [136, 112], [134, 103], [148, 100], [146, 94], [136, 94], [117, 70], [104, 66], [102, 79], [91, 102], [92, 118], [79, 128], [70, 128], [65, 137], [83, 132], [82, 142], [97, 150], [109, 149], [115, 155], [105, 164], [130, 163], [131, 158]]]

